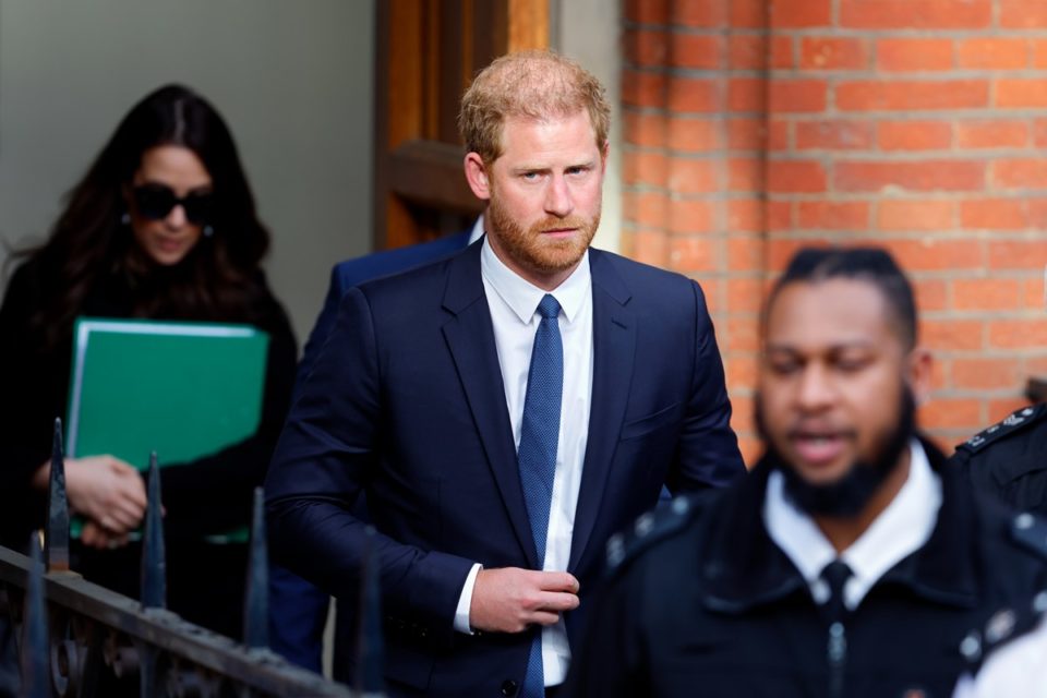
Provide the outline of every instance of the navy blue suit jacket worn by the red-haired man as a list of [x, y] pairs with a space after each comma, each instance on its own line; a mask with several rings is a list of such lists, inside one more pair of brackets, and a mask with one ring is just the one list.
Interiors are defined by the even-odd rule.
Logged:
[[[280, 437], [267, 481], [277, 557], [356, 594], [366, 492], [392, 695], [497, 695], [520, 682], [530, 634], [453, 629], [469, 569], [541, 568], [480, 275], [481, 243], [350, 289]], [[581, 605], [606, 539], [673, 491], [744, 472], [723, 368], [694, 281], [598, 250], [589, 436], [568, 571]], [[352, 597], [350, 597], [352, 598]], [[534, 630], [537, 631], [537, 630]]]

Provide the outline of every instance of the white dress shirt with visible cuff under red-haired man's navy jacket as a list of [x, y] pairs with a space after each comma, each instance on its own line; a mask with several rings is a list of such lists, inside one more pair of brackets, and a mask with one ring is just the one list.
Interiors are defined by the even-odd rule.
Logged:
[[[483, 290], [488, 297], [498, 365], [505, 386], [505, 404], [513, 425], [513, 441], [520, 445], [527, 374], [534, 333], [541, 320], [538, 303], [546, 291], [517, 276], [497, 257], [486, 240], [480, 254]], [[592, 278], [587, 251], [578, 267], [552, 291], [561, 306], [559, 334], [564, 347], [564, 389], [559, 412], [556, 472], [549, 512], [545, 561], [542, 569], [564, 571], [570, 556], [575, 509], [581, 485], [581, 468], [589, 436], [589, 404], [592, 395]], [[469, 607], [480, 565], [466, 579], [455, 615], [455, 629], [469, 633]], [[545, 685], [563, 683], [570, 664], [570, 648], [563, 618], [542, 629], [542, 665]]]

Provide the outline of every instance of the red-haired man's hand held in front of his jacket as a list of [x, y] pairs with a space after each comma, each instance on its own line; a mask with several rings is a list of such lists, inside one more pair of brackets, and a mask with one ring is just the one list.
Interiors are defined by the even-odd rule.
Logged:
[[481, 569], [469, 624], [489, 633], [522, 633], [530, 625], [552, 625], [561, 613], [577, 607], [578, 580], [565, 571]]

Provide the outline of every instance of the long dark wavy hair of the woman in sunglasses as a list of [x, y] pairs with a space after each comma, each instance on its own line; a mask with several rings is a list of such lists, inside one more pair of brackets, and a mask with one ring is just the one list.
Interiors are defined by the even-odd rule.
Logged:
[[[202, 237], [179, 264], [163, 268], [135, 243], [124, 189], [149, 148], [192, 151], [212, 178], [214, 234]], [[122, 277], [134, 316], [251, 322], [260, 292], [260, 263], [269, 233], [255, 214], [232, 134], [215, 108], [180, 85], [144, 97], [68, 196], [48, 240], [23, 253], [49, 280], [33, 320], [46, 346], [69, 336], [92, 288], [106, 275]]]

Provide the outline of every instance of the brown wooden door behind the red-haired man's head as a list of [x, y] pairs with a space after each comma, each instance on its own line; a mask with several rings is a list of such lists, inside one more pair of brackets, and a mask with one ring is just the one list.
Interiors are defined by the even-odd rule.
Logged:
[[458, 101], [512, 50], [549, 46], [552, 0], [378, 0], [376, 250], [466, 230], [481, 210], [462, 173]]

